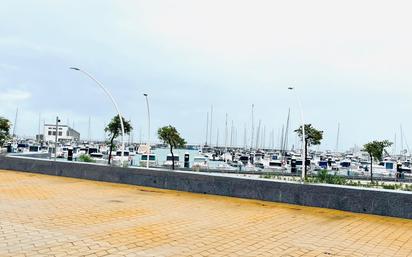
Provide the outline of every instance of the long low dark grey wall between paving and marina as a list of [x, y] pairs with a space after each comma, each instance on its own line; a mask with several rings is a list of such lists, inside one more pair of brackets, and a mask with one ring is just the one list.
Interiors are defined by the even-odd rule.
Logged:
[[[0, 156], [0, 169], [412, 218], [412, 193]], [[1, 182], [0, 182], [1, 183]]]

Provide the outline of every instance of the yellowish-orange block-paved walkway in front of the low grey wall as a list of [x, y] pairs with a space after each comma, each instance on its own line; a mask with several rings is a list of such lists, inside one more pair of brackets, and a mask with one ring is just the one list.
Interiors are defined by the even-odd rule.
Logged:
[[0, 256], [412, 256], [412, 220], [0, 170]]

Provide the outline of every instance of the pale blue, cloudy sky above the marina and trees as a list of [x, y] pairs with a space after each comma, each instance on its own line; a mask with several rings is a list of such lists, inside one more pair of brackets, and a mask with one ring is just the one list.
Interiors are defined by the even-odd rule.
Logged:
[[[133, 139], [175, 126], [204, 143], [213, 105], [212, 144], [224, 144], [225, 117], [239, 145], [261, 120], [275, 145], [291, 109], [324, 131], [319, 149], [412, 138], [410, 1], [2, 0], [0, 116], [34, 136], [58, 115], [82, 137], [104, 137], [116, 114], [92, 74], [131, 120]], [[288, 87], [294, 87], [290, 91]], [[296, 94], [294, 94], [296, 93]], [[256, 131], [256, 128], [255, 128]], [[229, 133], [228, 133], [229, 134]], [[256, 138], [256, 135], [254, 136]], [[294, 133], [289, 141], [297, 144]], [[229, 141], [229, 139], [228, 139]]]

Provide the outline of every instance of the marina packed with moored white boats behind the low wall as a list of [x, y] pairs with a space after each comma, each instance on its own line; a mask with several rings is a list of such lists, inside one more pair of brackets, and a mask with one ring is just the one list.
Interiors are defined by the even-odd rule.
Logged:
[[[112, 164], [130, 167], [171, 169], [170, 149], [163, 145], [152, 147], [147, 154], [147, 145], [128, 145], [126, 151], [113, 152]], [[32, 140], [21, 141], [7, 149], [12, 155], [32, 155], [54, 158], [54, 145], [40, 145]], [[84, 156], [90, 159], [84, 159]], [[63, 144], [57, 148], [58, 161], [86, 161], [107, 165], [108, 148], [102, 143]], [[302, 172], [302, 157], [299, 151], [245, 150], [242, 148], [190, 146], [174, 150], [175, 169], [198, 172], [232, 174], [268, 179], [298, 179]], [[321, 171], [345, 179], [368, 181], [370, 159], [364, 152], [331, 153], [310, 151], [307, 160], [308, 176], [314, 177]], [[386, 156], [381, 162], [373, 162], [373, 176], [381, 182], [412, 183], [410, 156]]]

